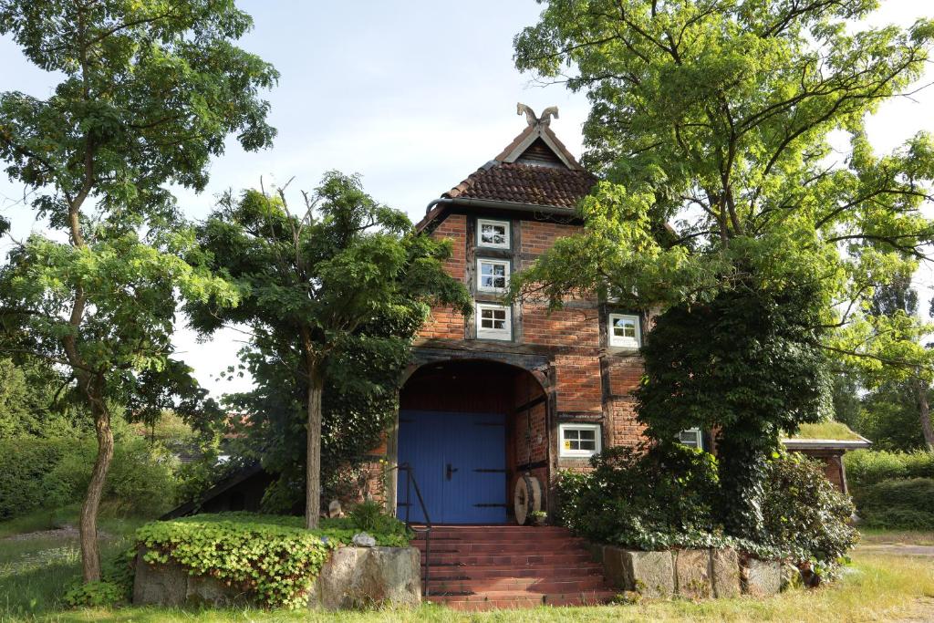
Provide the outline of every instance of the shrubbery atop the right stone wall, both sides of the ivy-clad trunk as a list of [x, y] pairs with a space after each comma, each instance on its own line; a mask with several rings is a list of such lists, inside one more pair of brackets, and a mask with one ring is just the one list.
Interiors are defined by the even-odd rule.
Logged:
[[836, 564], [856, 543], [853, 505], [822, 466], [779, 455], [767, 465], [756, 540], [717, 523], [720, 498], [712, 455], [682, 446], [647, 452], [612, 448], [587, 474], [559, 478], [559, 521], [594, 541], [645, 550], [732, 546], [761, 558]]

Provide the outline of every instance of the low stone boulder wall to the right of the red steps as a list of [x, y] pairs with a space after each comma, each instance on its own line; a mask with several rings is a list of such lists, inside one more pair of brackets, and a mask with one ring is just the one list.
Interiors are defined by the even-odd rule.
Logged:
[[616, 588], [645, 597], [690, 599], [774, 595], [781, 588], [778, 562], [749, 559], [733, 549], [643, 552], [603, 545], [603, 569]]

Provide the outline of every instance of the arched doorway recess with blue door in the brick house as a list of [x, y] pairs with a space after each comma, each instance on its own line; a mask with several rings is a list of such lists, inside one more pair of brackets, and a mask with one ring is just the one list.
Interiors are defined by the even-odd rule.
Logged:
[[[545, 389], [529, 371], [496, 361], [422, 365], [400, 393], [398, 460], [412, 466], [433, 523], [511, 520], [518, 474], [546, 482]], [[405, 517], [404, 483], [397, 513]], [[414, 497], [409, 517], [423, 520]]]

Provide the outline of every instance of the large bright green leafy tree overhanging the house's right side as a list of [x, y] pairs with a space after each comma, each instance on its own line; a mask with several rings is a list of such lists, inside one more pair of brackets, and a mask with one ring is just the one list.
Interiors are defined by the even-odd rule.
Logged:
[[[514, 278], [514, 295], [559, 306], [568, 292], [591, 292], [630, 309], [680, 309], [685, 326], [693, 305], [735, 317], [716, 303], [723, 295], [743, 297], [743, 306], [785, 300], [801, 306], [780, 316], [807, 321], [805, 343], [845, 363], [897, 375], [929, 369], [915, 339], [920, 320], [873, 315], [869, 303], [876, 286], [927, 259], [934, 224], [920, 208], [932, 197], [934, 141], [915, 135], [880, 156], [864, 121], [921, 76], [934, 24], [854, 32], [875, 6], [546, 2], [538, 23], [516, 37], [516, 64], [587, 92], [585, 163], [604, 181], [581, 205], [584, 233], [559, 240]], [[842, 159], [833, 133], [849, 135]], [[724, 346], [732, 339], [698, 334]], [[819, 362], [810, 348], [788, 354], [801, 358], [795, 369]], [[775, 418], [793, 432], [805, 421], [796, 404], [745, 417], [771, 418], [759, 425], [770, 435]], [[755, 499], [757, 487], [746, 481], [743, 498]]]

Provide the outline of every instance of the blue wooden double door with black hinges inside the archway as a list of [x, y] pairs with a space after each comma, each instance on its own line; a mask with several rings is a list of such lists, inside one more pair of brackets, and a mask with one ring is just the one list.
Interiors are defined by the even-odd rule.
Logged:
[[[433, 523], [506, 521], [505, 448], [502, 414], [399, 414], [399, 462], [412, 465]], [[404, 518], [404, 474], [397, 491]], [[423, 521], [414, 491], [409, 503], [412, 520]]]

